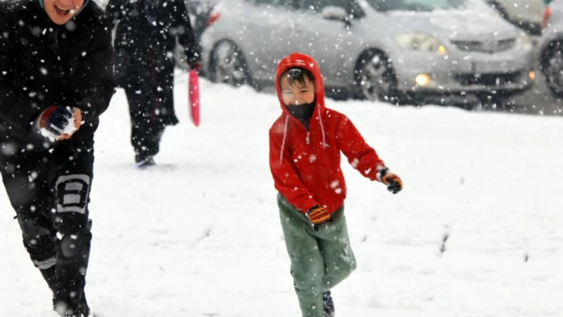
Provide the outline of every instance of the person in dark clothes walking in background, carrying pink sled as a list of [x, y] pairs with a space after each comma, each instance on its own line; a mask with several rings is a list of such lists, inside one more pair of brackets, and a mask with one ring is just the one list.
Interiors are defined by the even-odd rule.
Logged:
[[115, 30], [115, 74], [127, 95], [131, 145], [137, 167], [154, 165], [166, 126], [178, 123], [174, 110], [176, 40], [190, 68], [199, 67], [184, 0], [110, 0], [106, 15]]

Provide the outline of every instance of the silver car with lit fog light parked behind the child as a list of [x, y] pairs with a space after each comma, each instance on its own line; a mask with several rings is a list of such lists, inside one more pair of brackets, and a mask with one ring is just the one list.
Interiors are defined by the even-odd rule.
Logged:
[[300, 51], [318, 61], [327, 91], [359, 99], [503, 100], [534, 81], [531, 41], [474, 3], [228, 0], [202, 35], [204, 69], [212, 81], [261, 87]]

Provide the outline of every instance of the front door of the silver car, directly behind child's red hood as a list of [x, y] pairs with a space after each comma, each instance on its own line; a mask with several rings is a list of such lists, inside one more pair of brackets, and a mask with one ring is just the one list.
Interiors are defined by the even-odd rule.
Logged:
[[[299, 50], [311, 55], [319, 68], [327, 86], [346, 86], [352, 81], [351, 72], [343, 65], [350, 59], [346, 50], [353, 41], [353, 24], [343, 20], [327, 19], [322, 12], [327, 7], [345, 10], [349, 21], [358, 23], [354, 16], [361, 9], [351, 0], [298, 0], [298, 19], [296, 20], [296, 38]], [[352, 58], [356, 58], [355, 56]]]

